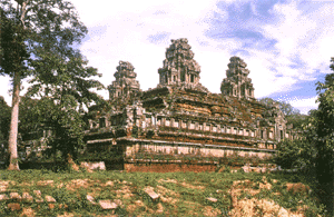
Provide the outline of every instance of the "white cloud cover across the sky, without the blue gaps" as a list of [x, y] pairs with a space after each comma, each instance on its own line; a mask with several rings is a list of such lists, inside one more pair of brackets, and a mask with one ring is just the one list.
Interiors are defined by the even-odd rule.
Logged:
[[[237, 4], [249, 0], [232, 0]], [[232, 1], [228, 1], [232, 3]], [[136, 68], [141, 89], [155, 88], [158, 83], [158, 68], [163, 67], [166, 48], [170, 39], [188, 38], [195, 52], [195, 60], [202, 66], [200, 82], [213, 92], [219, 92], [220, 82], [226, 77], [230, 53], [243, 48], [243, 40], [207, 38], [214, 12], [228, 18], [227, 11], [218, 10], [218, 0], [124, 0], [107, 1], [71, 0], [81, 21], [96, 32], [84, 42], [82, 53], [89, 66], [102, 73], [100, 81], [108, 86], [119, 60], [130, 61]], [[261, 13], [250, 1], [252, 11]], [[328, 72], [330, 59], [334, 50], [334, 4], [327, 3], [312, 12], [303, 11], [297, 1], [277, 3], [271, 11], [279, 18], [271, 24], [261, 26], [249, 20], [245, 26], [262, 30], [266, 39], [277, 40], [273, 49], [246, 49], [249, 55], [240, 56], [248, 65], [255, 96], [289, 91], [296, 83], [313, 80], [315, 71]], [[100, 31], [100, 32], [99, 32]], [[151, 43], [148, 38], [166, 33], [166, 38]], [[298, 61], [298, 62], [296, 62]], [[297, 65], [292, 68], [292, 65]], [[8, 81], [1, 78], [0, 95], [7, 96]], [[102, 93], [106, 98], [107, 92]], [[9, 97], [7, 97], [7, 101]], [[304, 100], [305, 103], [312, 101]], [[304, 103], [304, 102], [303, 102]]]

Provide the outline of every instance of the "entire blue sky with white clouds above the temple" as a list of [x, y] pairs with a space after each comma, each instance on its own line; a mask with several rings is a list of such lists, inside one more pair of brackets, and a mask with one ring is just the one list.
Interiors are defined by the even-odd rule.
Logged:
[[[306, 114], [316, 108], [334, 50], [330, 0], [70, 0], [89, 33], [80, 49], [110, 85], [119, 60], [136, 68], [143, 90], [158, 83], [171, 39], [188, 38], [200, 82], [219, 92], [232, 56], [248, 65], [255, 97], [284, 100]], [[10, 103], [8, 78], [0, 95]], [[105, 98], [107, 92], [100, 92]]]

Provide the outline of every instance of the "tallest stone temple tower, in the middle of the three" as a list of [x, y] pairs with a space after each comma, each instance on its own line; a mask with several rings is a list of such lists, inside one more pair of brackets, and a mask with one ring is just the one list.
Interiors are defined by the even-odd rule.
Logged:
[[171, 40], [166, 50], [164, 67], [159, 68], [159, 85], [168, 86], [174, 83], [197, 85], [199, 82], [199, 65], [193, 59], [188, 40], [185, 38]]

